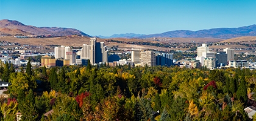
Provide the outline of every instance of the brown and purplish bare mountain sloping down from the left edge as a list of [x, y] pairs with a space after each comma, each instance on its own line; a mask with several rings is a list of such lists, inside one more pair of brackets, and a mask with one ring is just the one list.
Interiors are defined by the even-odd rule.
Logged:
[[[44, 35], [44, 36], [69, 36], [69, 35], [80, 35], [88, 36], [80, 30], [74, 28], [59, 28], [59, 27], [35, 27], [32, 25], [24, 25], [18, 21], [12, 21], [8, 19], [3, 19], [0, 21], [0, 34], [22, 34], [27, 35]], [[15, 32], [16, 31], [16, 32]]]

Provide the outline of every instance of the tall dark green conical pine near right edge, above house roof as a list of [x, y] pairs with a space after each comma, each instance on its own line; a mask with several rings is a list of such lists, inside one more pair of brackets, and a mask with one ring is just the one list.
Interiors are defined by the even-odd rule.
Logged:
[[246, 82], [244, 75], [241, 77], [241, 82], [238, 87], [238, 90], [236, 91], [237, 99], [241, 100], [244, 103], [247, 103], [247, 89], [246, 89]]

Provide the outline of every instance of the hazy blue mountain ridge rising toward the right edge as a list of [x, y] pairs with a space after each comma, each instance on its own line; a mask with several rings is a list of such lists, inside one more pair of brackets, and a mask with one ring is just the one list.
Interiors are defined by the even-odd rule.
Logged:
[[219, 38], [230, 39], [241, 36], [256, 36], [256, 25], [239, 28], [212, 28], [209, 30], [176, 30], [160, 34], [148, 34], [138, 38]]

